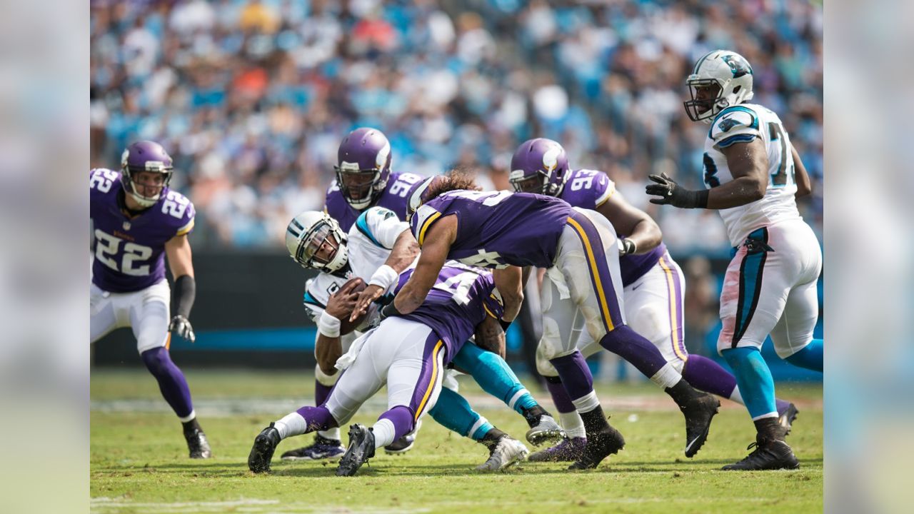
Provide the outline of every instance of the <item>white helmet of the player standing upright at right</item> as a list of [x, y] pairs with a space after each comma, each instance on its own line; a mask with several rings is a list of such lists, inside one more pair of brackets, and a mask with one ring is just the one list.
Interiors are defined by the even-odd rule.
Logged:
[[[683, 102], [685, 112], [693, 121], [711, 123], [717, 112], [752, 98], [752, 67], [743, 56], [730, 50], [708, 52], [695, 65], [685, 80], [692, 100]], [[696, 88], [717, 84], [717, 98], [698, 100]]]

